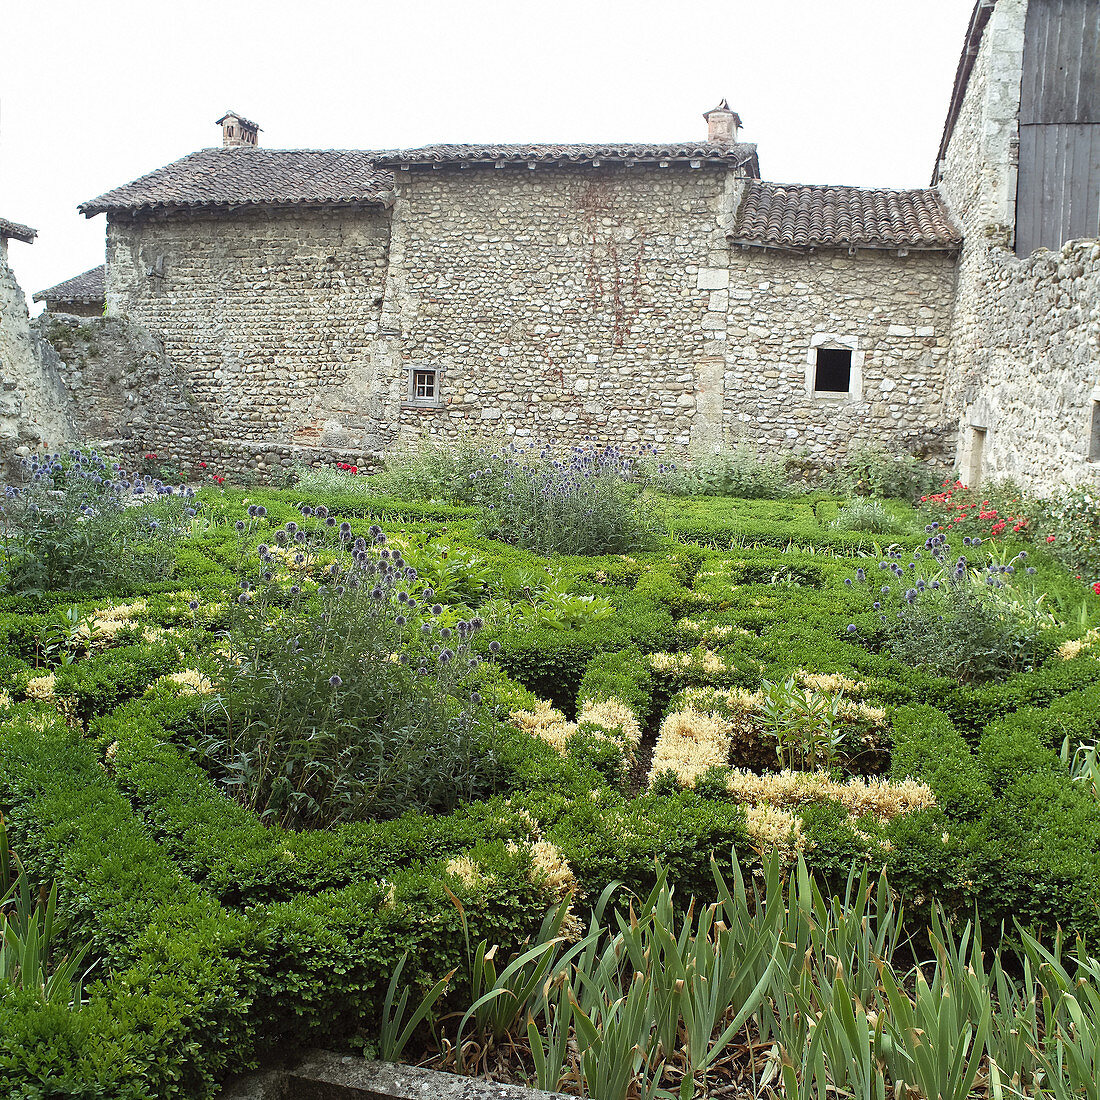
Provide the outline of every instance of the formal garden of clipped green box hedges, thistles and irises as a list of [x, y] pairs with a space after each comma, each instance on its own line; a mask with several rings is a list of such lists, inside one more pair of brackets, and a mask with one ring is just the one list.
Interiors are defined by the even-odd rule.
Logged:
[[4, 1096], [1098, 1094], [1090, 490], [471, 442], [2, 509]]

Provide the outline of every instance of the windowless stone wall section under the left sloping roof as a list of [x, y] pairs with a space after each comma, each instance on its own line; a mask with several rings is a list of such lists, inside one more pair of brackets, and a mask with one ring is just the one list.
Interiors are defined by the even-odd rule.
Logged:
[[263, 473], [302, 449], [377, 448], [387, 241], [377, 207], [112, 218], [108, 312], [163, 341], [210, 426], [200, 452], [184, 441], [190, 425], [165, 420], [151, 449]]

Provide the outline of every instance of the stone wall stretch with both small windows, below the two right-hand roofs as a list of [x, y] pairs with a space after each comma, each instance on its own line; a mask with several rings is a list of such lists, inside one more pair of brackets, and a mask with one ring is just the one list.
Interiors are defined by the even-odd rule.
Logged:
[[[943, 444], [950, 255], [730, 252], [718, 168], [410, 172], [398, 196], [389, 404], [410, 371], [442, 378], [440, 408], [400, 409], [405, 440]], [[815, 337], [855, 345], [860, 393], [807, 393]]]

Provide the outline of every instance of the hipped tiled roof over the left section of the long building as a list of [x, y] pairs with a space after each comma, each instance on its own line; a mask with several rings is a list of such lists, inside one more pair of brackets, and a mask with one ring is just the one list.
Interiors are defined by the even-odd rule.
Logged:
[[245, 202], [384, 202], [393, 187], [374, 153], [358, 150], [205, 148], [132, 184], [81, 202], [105, 210], [238, 206]]

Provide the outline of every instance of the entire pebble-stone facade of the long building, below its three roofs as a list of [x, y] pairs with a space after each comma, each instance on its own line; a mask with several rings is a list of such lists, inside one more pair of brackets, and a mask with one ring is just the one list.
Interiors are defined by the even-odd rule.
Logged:
[[[939, 457], [954, 257], [730, 250], [738, 196], [721, 166], [451, 166], [398, 173], [388, 212], [116, 217], [108, 310], [164, 355], [74, 382], [147, 450], [262, 475], [471, 430]], [[851, 392], [815, 396], [837, 341]], [[420, 370], [438, 400], [411, 400]]]

